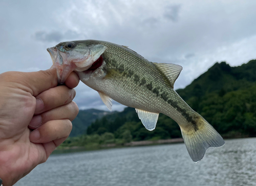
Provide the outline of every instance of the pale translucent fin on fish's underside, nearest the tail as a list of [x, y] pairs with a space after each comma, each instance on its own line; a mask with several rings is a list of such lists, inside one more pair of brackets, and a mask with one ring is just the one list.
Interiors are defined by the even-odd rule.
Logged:
[[154, 130], [156, 128], [159, 113], [148, 112], [137, 108], [135, 110], [147, 130]]

